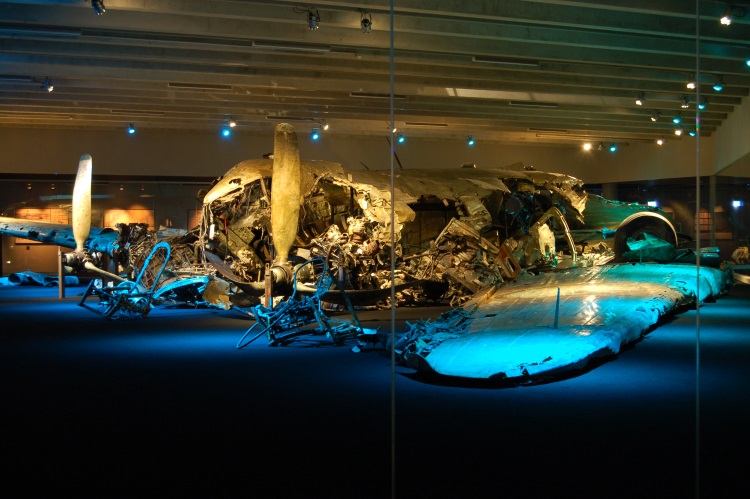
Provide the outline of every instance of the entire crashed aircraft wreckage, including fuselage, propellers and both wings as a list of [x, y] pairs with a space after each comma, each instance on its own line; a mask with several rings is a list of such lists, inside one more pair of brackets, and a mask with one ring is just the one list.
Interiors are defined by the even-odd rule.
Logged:
[[[179, 302], [249, 310], [258, 332], [238, 346], [261, 335], [283, 344], [312, 322], [337, 342], [373, 341], [354, 309], [387, 305], [392, 286], [397, 306], [448, 303], [458, 308], [411, 325], [394, 346], [408, 365], [461, 377], [580, 367], [727, 286], [705, 267], [704, 286], [686, 284], [695, 255], [658, 209], [590, 195], [564, 174], [464, 166], [398, 170], [392, 197], [390, 172], [302, 161], [281, 124], [272, 157], [243, 161], [200, 193], [202, 221], [184, 233], [91, 227], [88, 155], [72, 227], [0, 218], [0, 233], [75, 248], [64, 256], [71, 271], [111, 282], [92, 281], [79, 304], [107, 318]], [[660, 263], [622, 263], [648, 261]], [[354, 323], [333, 326], [331, 304]], [[531, 343], [533, 354], [522, 347]]]

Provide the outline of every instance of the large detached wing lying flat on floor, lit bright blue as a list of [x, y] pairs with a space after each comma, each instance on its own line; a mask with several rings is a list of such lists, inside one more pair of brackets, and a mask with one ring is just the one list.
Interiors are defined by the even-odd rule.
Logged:
[[[397, 342], [420, 371], [474, 379], [535, 381], [582, 369], [648, 332], [698, 296], [724, 292], [726, 273], [680, 264], [621, 264], [525, 275], [472, 312], [421, 322]], [[559, 307], [557, 293], [560, 290]]]

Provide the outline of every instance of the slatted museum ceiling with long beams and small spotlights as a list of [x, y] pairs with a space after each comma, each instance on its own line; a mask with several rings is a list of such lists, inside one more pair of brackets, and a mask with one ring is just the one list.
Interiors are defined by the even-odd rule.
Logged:
[[394, 3], [392, 64], [385, 0], [3, 1], [0, 126], [388, 136], [393, 71], [407, 136], [608, 145], [691, 140], [697, 101], [711, 135], [750, 87], [750, 4]]

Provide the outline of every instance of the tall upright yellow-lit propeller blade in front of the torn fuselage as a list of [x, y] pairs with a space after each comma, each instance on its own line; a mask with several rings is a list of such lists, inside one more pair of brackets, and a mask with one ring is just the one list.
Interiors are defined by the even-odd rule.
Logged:
[[274, 131], [271, 177], [271, 231], [276, 250], [274, 264], [289, 260], [289, 250], [297, 235], [300, 175], [297, 134], [289, 123], [280, 123]]

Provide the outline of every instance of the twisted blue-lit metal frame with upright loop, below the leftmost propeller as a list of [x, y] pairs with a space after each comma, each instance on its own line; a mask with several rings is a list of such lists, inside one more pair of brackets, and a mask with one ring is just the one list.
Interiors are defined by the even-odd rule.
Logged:
[[[134, 281], [122, 281], [114, 286], [99, 286], [101, 280], [94, 279], [89, 283], [78, 305], [107, 319], [119, 317], [145, 318], [151, 311], [154, 290], [169, 263], [170, 257], [171, 247], [169, 243], [161, 241], [155, 244]], [[158, 270], [154, 271], [152, 265], [158, 267]], [[147, 288], [144, 285], [145, 282], [151, 283], [150, 287]], [[91, 296], [98, 298], [95, 305], [86, 303], [86, 300]]]

